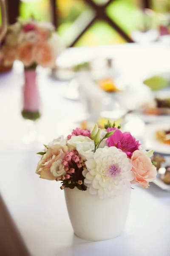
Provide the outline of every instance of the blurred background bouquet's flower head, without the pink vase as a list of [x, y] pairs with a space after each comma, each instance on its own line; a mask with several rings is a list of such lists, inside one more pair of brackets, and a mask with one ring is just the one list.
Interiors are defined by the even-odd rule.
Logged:
[[1, 56], [4, 66], [11, 66], [15, 60], [19, 60], [27, 68], [37, 65], [52, 68], [63, 49], [62, 41], [51, 23], [39, 22], [34, 18], [18, 19], [8, 27]]

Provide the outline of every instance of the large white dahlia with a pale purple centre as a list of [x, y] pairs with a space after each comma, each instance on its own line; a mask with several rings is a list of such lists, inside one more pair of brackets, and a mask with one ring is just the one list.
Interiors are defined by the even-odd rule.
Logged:
[[87, 160], [85, 165], [85, 186], [92, 195], [99, 195], [101, 199], [114, 198], [130, 188], [133, 172], [130, 160], [121, 149], [98, 148], [93, 159]]

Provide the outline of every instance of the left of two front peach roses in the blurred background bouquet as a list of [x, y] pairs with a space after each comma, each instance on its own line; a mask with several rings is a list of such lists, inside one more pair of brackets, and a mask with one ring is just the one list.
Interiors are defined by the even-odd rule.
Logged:
[[29, 67], [34, 61], [34, 44], [25, 42], [18, 47], [18, 59], [23, 62], [26, 67]]

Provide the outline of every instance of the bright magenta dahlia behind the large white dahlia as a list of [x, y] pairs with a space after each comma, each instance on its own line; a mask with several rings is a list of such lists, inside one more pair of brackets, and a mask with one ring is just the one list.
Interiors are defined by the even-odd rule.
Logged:
[[108, 131], [116, 130], [111, 137], [107, 139], [107, 143], [109, 147], [115, 146], [116, 148], [121, 149], [123, 152], [127, 154], [127, 157], [132, 157], [134, 151], [139, 150], [139, 140], [135, 140], [135, 138], [130, 134], [130, 132], [120, 131], [118, 128], [108, 128]]

